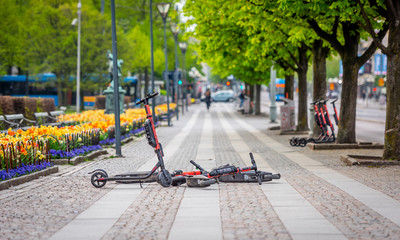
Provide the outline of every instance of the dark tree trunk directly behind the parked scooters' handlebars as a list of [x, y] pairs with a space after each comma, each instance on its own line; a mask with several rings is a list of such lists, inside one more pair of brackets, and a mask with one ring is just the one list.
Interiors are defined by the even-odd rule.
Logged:
[[[326, 96], [326, 58], [329, 48], [323, 47], [322, 40], [313, 42], [313, 101], [325, 99]], [[314, 122], [313, 135], [321, 133], [320, 127]]]

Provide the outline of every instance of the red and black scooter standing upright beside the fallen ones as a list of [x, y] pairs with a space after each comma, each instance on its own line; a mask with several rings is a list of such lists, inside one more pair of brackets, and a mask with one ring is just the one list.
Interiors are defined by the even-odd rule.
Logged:
[[[144, 128], [146, 131], [147, 141], [150, 146], [154, 148], [157, 155], [158, 162], [151, 171], [146, 172], [133, 172], [118, 174], [114, 177], [108, 177], [108, 174], [103, 169], [96, 169], [89, 174], [92, 174], [91, 183], [96, 188], [101, 188], [106, 185], [107, 181], [117, 181], [117, 182], [152, 182], [156, 180], [161, 186], [169, 187], [172, 184], [172, 177], [168, 170], [165, 169], [164, 165], [164, 152], [162, 150], [161, 143], [158, 142], [156, 129], [154, 127], [153, 115], [149, 107], [149, 99], [158, 95], [158, 92], [147, 94], [147, 96], [140, 101], [136, 102], [136, 105], [144, 103], [144, 108], [146, 110], [146, 121]], [[157, 171], [160, 169], [159, 171]]]

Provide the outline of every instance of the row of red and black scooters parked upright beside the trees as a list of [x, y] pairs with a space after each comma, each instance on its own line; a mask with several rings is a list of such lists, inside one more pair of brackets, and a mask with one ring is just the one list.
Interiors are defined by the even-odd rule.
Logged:
[[[334, 99], [331, 104], [333, 107], [333, 118], [335, 119], [336, 126], [339, 125], [339, 115], [336, 110], [335, 102], [338, 99]], [[326, 100], [317, 100], [311, 103], [314, 106], [314, 120], [317, 126], [321, 129], [321, 134], [316, 138], [299, 138], [293, 137], [289, 140], [289, 143], [293, 147], [305, 147], [307, 143], [333, 143], [336, 141], [335, 127], [329, 116]]]

